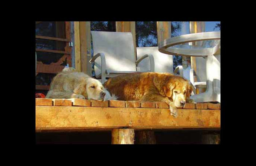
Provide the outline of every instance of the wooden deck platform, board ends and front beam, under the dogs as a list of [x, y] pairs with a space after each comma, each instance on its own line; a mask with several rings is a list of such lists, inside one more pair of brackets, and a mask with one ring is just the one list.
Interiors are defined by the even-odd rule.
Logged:
[[115, 128], [220, 130], [220, 104], [187, 103], [174, 118], [165, 102], [36, 99], [36, 132]]

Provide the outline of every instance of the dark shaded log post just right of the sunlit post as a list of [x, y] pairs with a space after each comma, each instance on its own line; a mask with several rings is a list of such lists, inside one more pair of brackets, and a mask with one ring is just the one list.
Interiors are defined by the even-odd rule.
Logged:
[[153, 130], [136, 131], [136, 144], [156, 144], [156, 136]]

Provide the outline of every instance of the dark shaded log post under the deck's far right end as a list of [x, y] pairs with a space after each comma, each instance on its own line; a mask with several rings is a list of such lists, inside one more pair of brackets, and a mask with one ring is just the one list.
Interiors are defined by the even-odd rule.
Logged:
[[220, 144], [220, 132], [202, 133], [202, 144]]

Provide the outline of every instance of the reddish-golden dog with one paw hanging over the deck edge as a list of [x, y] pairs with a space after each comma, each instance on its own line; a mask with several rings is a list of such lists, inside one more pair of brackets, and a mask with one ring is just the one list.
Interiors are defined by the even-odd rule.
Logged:
[[[171, 114], [177, 117], [177, 108], [185, 106], [193, 91], [189, 81], [170, 73], [131, 73], [108, 79], [104, 83], [111, 94], [118, 100], [166, 102], [170, 105]], [[181, 104], [183, 102], [183, 104]]]

